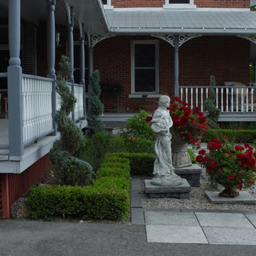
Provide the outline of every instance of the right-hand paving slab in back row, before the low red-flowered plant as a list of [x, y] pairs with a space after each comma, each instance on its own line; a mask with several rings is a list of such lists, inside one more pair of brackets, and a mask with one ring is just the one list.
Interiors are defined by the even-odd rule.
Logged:
[[202, 227], [253, 228], [242, 213], [195, 213]]

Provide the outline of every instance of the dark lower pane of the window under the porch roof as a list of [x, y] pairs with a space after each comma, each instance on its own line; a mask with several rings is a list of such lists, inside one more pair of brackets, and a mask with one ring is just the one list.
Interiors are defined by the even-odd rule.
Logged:
[[156, 92], [155, 69], [135, 69], [135, 92]]

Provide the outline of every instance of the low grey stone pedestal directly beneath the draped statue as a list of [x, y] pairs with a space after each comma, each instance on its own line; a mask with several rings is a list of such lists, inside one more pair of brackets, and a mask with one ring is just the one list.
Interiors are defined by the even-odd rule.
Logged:
[[145, 192], [149, 198], [189, 199], [191, 186], [185, 178], [181, 186], [154, 186], [151, 180], [145, 180]]

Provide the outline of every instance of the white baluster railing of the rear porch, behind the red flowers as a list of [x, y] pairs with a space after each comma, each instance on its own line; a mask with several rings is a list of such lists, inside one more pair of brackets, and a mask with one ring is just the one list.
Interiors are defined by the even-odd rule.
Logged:
[[[190, 107], [198, 106], [204, 111], [203, 105], [208, 98], [208, 86], [180, 86], [180, 98], [188, 102]], [[256, 112], [256, 87], [214, 87], [215, 106], [220, 112]]]

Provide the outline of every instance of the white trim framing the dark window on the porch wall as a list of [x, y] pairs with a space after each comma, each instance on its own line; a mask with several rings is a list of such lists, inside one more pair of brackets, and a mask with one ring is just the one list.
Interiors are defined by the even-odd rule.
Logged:
[[[156, 46], [155, 52], [155, 68], [156, 68], [156, 91], [155, 92], [135, 92], [135, 58], [134, 46], [136, 44], [154, 44]], [[139, 40], [132, 41], [131, 46], [131, 94], [132, 95], [156, 95], [159, 93], [159, 41], [158, 40]]]

